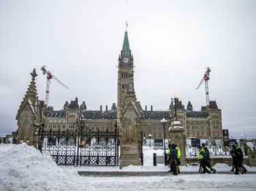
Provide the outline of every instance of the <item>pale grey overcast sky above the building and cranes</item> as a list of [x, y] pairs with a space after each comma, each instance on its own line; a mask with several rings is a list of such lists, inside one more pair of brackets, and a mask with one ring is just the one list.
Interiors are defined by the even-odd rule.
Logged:
[[[117, 103], [117, 65], [126, 21], [134, 57], [134, 88], [145, 108], [168, 109], [173, 94], [195, 111], [210, 101], [222, 110], [230, 138], [256, 138], [256, 1], [0, 0], [0, 136], [16, 131], [16, 114], [36, 69], [45, 100], [46, 65], [69, 89], [51, 81], [49, 105], [76, 97], [88, 109]], [[244, 135], [243, 135], [244, 138]]]

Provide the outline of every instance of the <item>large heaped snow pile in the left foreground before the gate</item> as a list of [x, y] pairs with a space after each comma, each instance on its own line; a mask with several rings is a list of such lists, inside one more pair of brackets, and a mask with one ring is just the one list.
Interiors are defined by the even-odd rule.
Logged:
[[63, 171], [49, 154], [42, 155], [26, 143], [1, 144], [0, 156], [0, 190], [79, 190], [81, 185], [88, 188], [77, 171]]

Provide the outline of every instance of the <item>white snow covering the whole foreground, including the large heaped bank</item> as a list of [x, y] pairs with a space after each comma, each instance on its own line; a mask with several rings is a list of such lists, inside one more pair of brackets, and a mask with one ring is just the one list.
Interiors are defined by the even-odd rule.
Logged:
[[[216, 164], [216, 174], [197, 174], [198, 167], [180, 167], [181, 174], [162, 176], [95, 177], [79, 176], [77, 171], [168, 171], [163, 164], [153, 166], [153, 153], [162, 150], [145, 147], [143, 167], [58, 167], [49, 154], [34, 147], [0, 144], [0, 190], [255, 190], [256, 167], [245, 166], [244, 175], [218, 173], [230, 171], [227, 164]], [[182, 174], [182, 172], [195, 172]]]

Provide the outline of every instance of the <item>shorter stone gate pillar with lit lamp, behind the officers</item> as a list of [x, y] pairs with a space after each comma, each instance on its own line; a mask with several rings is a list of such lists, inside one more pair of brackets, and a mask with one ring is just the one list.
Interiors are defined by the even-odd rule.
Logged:
[[186, 165], [186, 135], [185, 129], [183, 128], [182, 124], [179, 121], [171, 122], [171, 126], [169, 128], [169, 137], [171, 139], [169, 142], [171, 144], [177, 145], [180, 148], [181, 156], [180, 162], [182, 166]]

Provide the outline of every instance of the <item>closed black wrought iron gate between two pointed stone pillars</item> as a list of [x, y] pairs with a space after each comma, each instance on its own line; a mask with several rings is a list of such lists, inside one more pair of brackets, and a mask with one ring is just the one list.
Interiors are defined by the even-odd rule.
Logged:
[[50, 152], [59, 166], [118, 166], [119, 129], [86, 131], [79, 126], [74, 131], [44, 131], [40, 128], [38, 149]]

